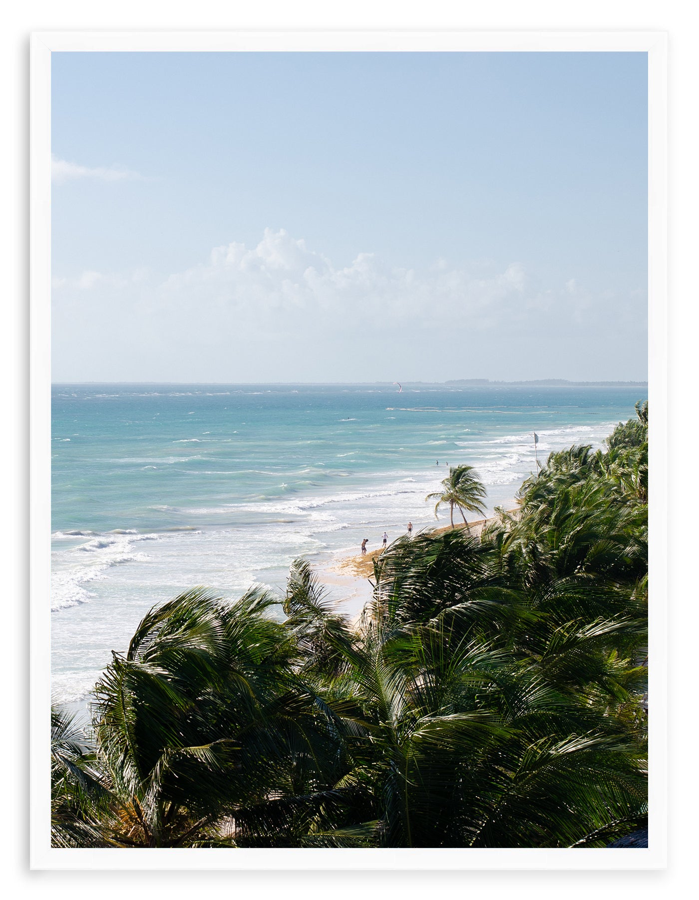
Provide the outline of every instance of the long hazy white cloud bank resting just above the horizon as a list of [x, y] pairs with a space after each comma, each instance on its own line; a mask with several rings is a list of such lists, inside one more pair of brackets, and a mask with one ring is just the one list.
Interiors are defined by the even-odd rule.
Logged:
[[594, 377], [605, 352], [620, 373], [598, 377], [633, 377], [624, 360], [645, 352], [631, 293], [543, 284], [516, 262], [336, 266], [284, 229], [165, 280], [87, 270], [54, 284], [58, 380], [581, 377], [578, 357]]

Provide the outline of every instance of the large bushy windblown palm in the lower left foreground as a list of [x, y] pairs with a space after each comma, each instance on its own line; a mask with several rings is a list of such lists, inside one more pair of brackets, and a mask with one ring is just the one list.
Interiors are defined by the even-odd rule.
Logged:
[[225, 846], [242, 833], [245, 843], [246, 808], [336, 778], [336, 734], [299, 677], [294, 631], [269, 615], [278, 603], [263, 590], [232, 604], [191, 590], [151, 609], [127, 653], [112, 653], [93, 707], [112, 842]]

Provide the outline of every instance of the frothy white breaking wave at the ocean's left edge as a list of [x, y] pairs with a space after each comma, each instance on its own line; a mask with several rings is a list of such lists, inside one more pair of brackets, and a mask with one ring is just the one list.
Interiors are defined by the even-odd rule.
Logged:
[[94, 594], [85, 588], [85, 584], [103, 581], [112, 566], [147, 561], [150, 558], [148, 554], [136, 552], [133, 545], [160, 539], [160, 535], [116, 531], [96, 536], [72, 550], [54, 554], [57, 564], [51, 572], [51, 611], [89, 602]]

